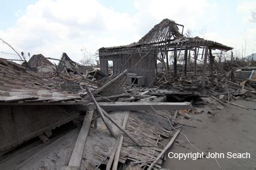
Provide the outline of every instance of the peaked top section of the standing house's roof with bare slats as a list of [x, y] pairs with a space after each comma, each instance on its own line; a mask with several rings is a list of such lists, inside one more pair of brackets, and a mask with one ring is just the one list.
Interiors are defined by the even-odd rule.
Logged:
[[138, 41], [138, 44], [160, 44], [181, 37], [183, 37], [183, 35], [179, 32], [179, 27], [175, 21], [166, 18], [144, 35], [143, 38]]

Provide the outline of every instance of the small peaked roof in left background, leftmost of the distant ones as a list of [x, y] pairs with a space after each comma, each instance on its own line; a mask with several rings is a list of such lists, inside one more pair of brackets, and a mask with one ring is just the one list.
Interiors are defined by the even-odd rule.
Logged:
[[31, 68], [43, 67], [43, 66], [54, 66], [46, 57], [42, 54], [33, 55], [29, 61], [28, 66]]

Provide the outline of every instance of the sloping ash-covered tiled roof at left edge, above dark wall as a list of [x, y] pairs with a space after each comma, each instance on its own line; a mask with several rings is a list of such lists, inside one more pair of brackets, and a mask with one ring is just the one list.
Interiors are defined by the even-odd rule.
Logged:
[[0, 104], [61, 103], [81, 98], [77, 94], [60, 91], [51, 79], [4, 58], [0, 58], [0, 85]]

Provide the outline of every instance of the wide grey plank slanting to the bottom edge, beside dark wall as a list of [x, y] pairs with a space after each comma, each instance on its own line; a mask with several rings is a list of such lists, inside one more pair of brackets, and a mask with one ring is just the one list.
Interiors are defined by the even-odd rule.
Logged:
[[82, 128], [80, 129], [79, 135], [77, 137], [76, 144], [74, 146], [73, 153], [70, 157], [70, 162], [68, 166], [80, 167], [80, 163], [83, 156], [83, 150], [85, 149], [86, 138], [89, 134], [89, 129], [92, 122], [92, 116], [94, 115], [94, 110], [88, 111], [86, 113], [85, 119], [83, 120]]

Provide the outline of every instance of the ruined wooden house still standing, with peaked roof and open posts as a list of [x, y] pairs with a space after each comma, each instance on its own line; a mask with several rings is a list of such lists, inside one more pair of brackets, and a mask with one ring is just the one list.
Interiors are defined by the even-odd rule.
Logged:
[[[166, 74], [171, 74], [175, 78], [178, 75], [177, 59], [179, 55], [183, 55], [184, 76], [187, 73], [188, 60], [194, 62], [194, 72], [197, 73], [197, 61], [200, 59], [204, 63], [202, 82], [202, 88], [204, 88], [207, 60], [212, 74], [215, 68], [222, 72], [214, 60], [212, 50], [228, 51], [232, 49], [203, 38], [187, 38], [183, 35], [183, 25], [166, 18], [156, 24], [138, 42], [118, 47], [100, 48], [99, 57], [101, 71], [106, 75], [109, 71], [108, 63], [112, 61], [113, 75], [118, 75], [122, 70], [127, 69], [128, 73], [131, 73], [128, 76], [127, 84], [146, 86], [153, 85], [158, 61], [165, 63], [163, 65], [167, 66]], [[198, 58], [199, 52], [202, 58]]]

